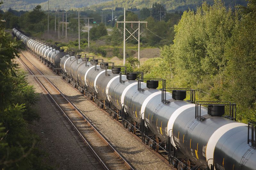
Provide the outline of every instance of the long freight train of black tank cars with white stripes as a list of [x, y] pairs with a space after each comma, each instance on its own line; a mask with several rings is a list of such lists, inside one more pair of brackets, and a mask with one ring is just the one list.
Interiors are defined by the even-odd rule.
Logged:
[[164, 79], [144, 78], [143, 72], [128, 72], [103, 59], [64, 52], [15, 28], [12, 33], [79, 92], [140, 134], [143, 143], [166, 153], [171, 166], [256, 169], [255, 122], [236, 122], [236, 104], [195, 102], [195, 90], [166, 88]]

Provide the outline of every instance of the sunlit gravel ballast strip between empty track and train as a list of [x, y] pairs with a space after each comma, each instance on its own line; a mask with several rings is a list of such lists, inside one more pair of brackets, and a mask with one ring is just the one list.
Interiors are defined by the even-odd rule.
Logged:
[[[129, 132], [120, 127], [120, 125], [106, 115], [100, 108], [93, 105], [90, 100], [84, 98], [81, 93], [77, 92], [73, 87], [62, 80], [60, 76], [56, 76], [56, 74], [48, 69], [35, 56], [31, 55], [27, 51], [22, 51], [22, 53], [65, 95], [65, 97], [68, 98], [68, 100], [74, 103], [76, 107], [81, 110], [89, 120], [91, 120], [92, 124], [108, 139], [117, 152], [131, 163], [135, 169], [172, 169], [152, 153], [145, 145], [135, 139]], [[50, 107], [48, 107], [47, 112], [50, 112], [49, 110]], [[56, 123], [54, 121], [47, 122], [45, 124], [47, 124], [49, 128], [53, 128], [56, 125], [55, 128], [60, 130], [66, 129], [68, 131], [66, 127], [60, 126], [60, 123]], [[64, 135], [62, 136], [69, 138], [66, 133], [69, 132], [63, 133]], [[72, 146], [73, 143], [76, 143], [76, 141], [70, 141], [70, 146]], [[56, 150], [58, 150], [58, 148]], [[80, 153], [77, 153], [77, 155], [78, 154]], [[67, 157], [65, 157], [65, 159], [66, 158]], [[64, 157], [62, 157], [62, 159], [64, 159]], [[84, 168], [86, 166], [82, 167]], [[73, 166], [71, 169], [76, 168]], [[88, 167], [86, 169], [91, 168]]]

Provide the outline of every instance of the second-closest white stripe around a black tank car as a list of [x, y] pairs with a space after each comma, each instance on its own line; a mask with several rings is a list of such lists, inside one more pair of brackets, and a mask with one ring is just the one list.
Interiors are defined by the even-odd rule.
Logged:
[[[195, 104], [188, 104], [188, 105], [181, 106], [181, 107], [179, 107], [178, 109], [176, 109], [176, 110], [172, 113], [172, 115], [171, 115], [171, 117], [170, 117], [170, 119], [169, 119], [169, 121], [168, 121], [168, 123], [167, 123], [167, 133], [169, 132], [169, 130], [172, 130], [172, 129], [173, 129], [173, 124], [174, 124], [175, 120], [177, 119], [177, 117], [178, 117], [183, 111], [185, 111], [185, 110], [187, 110], [188, 108], [191, 108], [191, 107], [195, 107]], [[168, 134], [166, 134], [166, 135], [168, 135]], [[171, 143], [172, 143], [173, 147], [175, 147], [176, 144], [175, 144], [175, 142], [174, 142], [174, 140], [173, 140], [173, 134], [170, 133], [170, 135], [172, 135]]]

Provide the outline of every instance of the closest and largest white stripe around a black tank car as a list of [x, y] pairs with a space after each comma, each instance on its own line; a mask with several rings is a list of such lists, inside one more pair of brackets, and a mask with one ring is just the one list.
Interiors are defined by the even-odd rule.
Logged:
[[224, 135], [229, 130], [239, 126], [247, 127], [248, 125], [245, 123], [233, 122], [233, 123], [225, 124], [220, 128], [218, 128], [217, 130], [215, 130], [215, 132], [213, 132], [212, 136], [208, 140], [208, 143], [206, 145], [206, 151], [205, 151], [205, 156], [206, 156], [206, 161], [208, 161], [208, 166], [213, 165], [213, 154], [214, 154], [215, 146], [217, 142], [220, 140], [220, 137], [222, 137], [222, 135]]

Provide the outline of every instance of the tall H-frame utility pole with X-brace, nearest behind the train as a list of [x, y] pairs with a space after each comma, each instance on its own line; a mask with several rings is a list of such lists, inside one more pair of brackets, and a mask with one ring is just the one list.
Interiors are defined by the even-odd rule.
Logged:
[[[117, 23], [124, 23], [124, 65], [125, 65], [125, 41], [128, 40], [131, 36], [138, 41], [138, 60], [140, 61], [140, 23], [148, 23], [147, 21], [125, 21], [125, 8], [124, 8], [124, 21], [117, 21]], [[128, 29], [125, 28], [125, 23], [138, 23], [139, 27], [131, 33]], [[147, 27], [147, 25], [146, 25]], [[125, 30], [130, 33], [128, 38], [125, 38]], [[138, 39], [133, 35], [138, 31]]]

